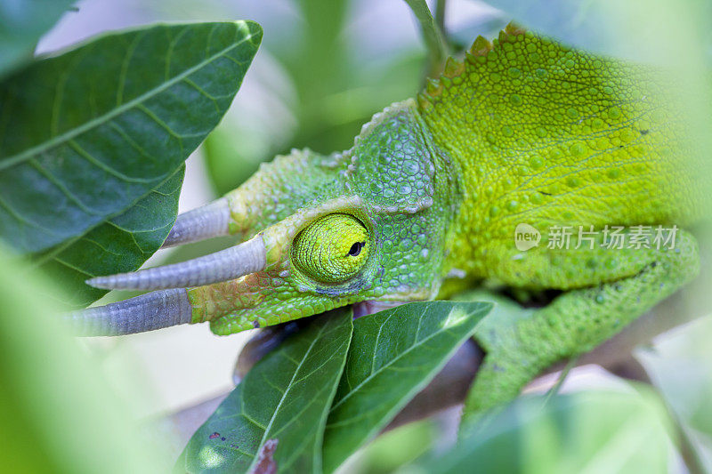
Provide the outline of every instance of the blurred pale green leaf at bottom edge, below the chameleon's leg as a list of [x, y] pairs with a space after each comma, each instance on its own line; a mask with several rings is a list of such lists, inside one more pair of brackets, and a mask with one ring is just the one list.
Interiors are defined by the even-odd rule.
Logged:
[[486, 430], [399, 472], [667, 472], [669, 419], [650, 390], [519, 398]]

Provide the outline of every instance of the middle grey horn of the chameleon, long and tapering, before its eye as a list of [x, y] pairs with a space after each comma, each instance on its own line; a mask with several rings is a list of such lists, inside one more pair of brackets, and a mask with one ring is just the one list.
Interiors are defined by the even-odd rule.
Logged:
[[197, 259], [133, 273], [95, 277], [86, 280], [86, 284], [109, 290], [162, 290], [209, 285], [259, 271], [265, 266], [265, 257], [262, 236], [257, 235], [247, 242]]

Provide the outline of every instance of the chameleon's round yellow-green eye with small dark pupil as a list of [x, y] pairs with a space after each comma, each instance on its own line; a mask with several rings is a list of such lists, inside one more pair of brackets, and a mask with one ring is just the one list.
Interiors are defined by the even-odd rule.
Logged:
[[341, 283], [359, 273], [368, 260], [368, 230], [355, 217], [329, 214], [295, 238], [292, 261], [313, 279]]

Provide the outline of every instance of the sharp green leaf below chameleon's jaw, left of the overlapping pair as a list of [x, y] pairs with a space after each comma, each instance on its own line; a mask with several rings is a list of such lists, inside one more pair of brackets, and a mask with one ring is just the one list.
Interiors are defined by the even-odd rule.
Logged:
[[314, 317], [232, 390], [190, 438], [176, 470], [320, 472], [328, 407], [351, 334], [349, 309]]

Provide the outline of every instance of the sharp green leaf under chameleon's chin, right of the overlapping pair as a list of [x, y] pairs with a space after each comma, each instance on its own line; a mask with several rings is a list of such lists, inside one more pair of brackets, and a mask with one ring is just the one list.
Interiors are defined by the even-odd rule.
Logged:
[[331, 472], [423, 390], [470, 337], [491, 303], [429, 301], [360, 317], [324, 434]]

